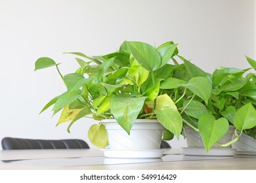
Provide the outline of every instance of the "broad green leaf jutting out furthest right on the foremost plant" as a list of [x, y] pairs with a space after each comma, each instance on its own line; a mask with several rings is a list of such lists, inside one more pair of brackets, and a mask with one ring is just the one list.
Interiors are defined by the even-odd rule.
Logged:
[[188, 84], [180, 84], [188, 88], [191, 92], [198, 95], [205, 103], [208, 103], [211, 97], [212, 85], [211, 82], [205, 77], [195, 77], [188, 81]]

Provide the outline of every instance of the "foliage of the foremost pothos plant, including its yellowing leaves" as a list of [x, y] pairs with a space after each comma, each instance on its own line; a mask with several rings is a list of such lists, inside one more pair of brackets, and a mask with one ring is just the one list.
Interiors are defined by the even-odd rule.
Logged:
[[[193, 75], [192, 63], [178, 56], [177, 44], [165, 42], [157, 48], [144, 42], [125, 41], [117, 52], [104, 56], [87, 56], [72, 52], [79, 68], [62, 75], [51, 58], [39, 58], [35, 70], [56, 67], [66, 85], [66, 92], [54, 97], [41, 112], [53, 106], [53, 114], [62, 110], [57, 125], [88, 117], [95, 120], [115, 118], [117, 123], [129, 134], [137, 118], [158, 119], [165, 128], [163, 139], [178, 139], [185, 121], [182, 114], [198, 98], [205, 104], [211, 97], [212, 84], [208, 75]], [[182, 58], [179, 65], [176, 59]], [[172, 60], [173, 64], [169, 64]], [[193, 75], [193, 76], [188, 76]], [[182, 78], [182, 80], [181, 80]], [[183, 94], [179, 95], [182, 88]], [[178, 103], [188, 99], [188, 103]], [[196, 108], [200, 110], [200, 108]], [[108, 136], [104, 124], [94, 124], [88, 131], [90, 141], [104, 148]]]

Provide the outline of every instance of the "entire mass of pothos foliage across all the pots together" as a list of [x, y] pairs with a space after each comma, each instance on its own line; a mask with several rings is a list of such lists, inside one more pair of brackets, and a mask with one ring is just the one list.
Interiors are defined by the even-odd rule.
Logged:
[[[78, 56], [79, 68], [64, 76], [51, 58], [35, 62], [35, 70], [56, 67], [66, 85], [66, 92], [41, 112], [52, 105], [53, 114], [62, 110], [57, 125], [70, 122], [68, 132], [85, 116], [114, 118], [128, 134], [137, 118], [156, 118], [165, 128], [164, 140], [179, 139], [183, 125], [189, 125], [200, 133], [206, 150], [223, 137], [229, 125], [236, 127], [236, 139], [223, 146], [237, 141], [243, 131], [255, 138], [256, 75], [245, 75], [249, 69], [223, 67], [205, 73], [180, 56], [174, 42], [154, 48], [125, 41], [117, 52], [104, 56], [68, 54]], [[256, 61], [247, 61], [256, 69]], [[96, 146], [108, 145], [101, 122], [92, 125], [88, 135]]]

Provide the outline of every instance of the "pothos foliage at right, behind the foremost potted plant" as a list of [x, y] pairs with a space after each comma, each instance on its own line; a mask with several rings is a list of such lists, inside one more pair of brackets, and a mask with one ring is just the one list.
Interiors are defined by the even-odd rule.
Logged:
[[[211, 75], [205, 73], [190, 61], [184, 58], [182, 60], [188, 72], [184, 71], [184, 75], [181, 76], [175, 74], [182, 81], [177, 81], [175, 78], [172, 78], [172, 80], [176, 80], [180, 84], [194, 77], [205, 76], [213, 85], [209, 100], [202, 101], [198, 97], [188, 100], [183, 97], [181, 102], [177, 103], [178, 107], [186, 108], [184, 113], [181, 112], [183, 122], [200, 133], [205, 149], [209, 151], [215, 143], [219, 143], [221, 146], [229, 146], [236, 142], [243, 132], [255, 138], [255, 73], [246, 73], [249, 69], [221, 67], [221, 69], [215, 69]], [[256, 68], [256, 61], [251, 58], [247, 58], [247, 61], [253, 69]], [[182, 71], [182, 69], [180, 70]], [[171, 83], [173, 82], [167, 80], [161, 84], [161, 87], [170, 88]], [[183, 93], [183, 95], [186, 93], [188, 96], [192, 95], [192, 98], [195, 96], [190, 92], [185, 92], [186, 88], [185, 90], [182, 89], [181, 85], [173, 88], [175, 89], [171, 90], [171, 97], [175, 97], [177, 93]], [[234, 125], [236, 128], [236, 136], [232, 141], [221, 144], [218, 141], [227, 133], [230, 125]]]

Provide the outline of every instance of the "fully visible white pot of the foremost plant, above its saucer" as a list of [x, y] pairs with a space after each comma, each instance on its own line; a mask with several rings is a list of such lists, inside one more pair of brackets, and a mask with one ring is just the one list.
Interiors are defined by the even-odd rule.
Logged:
[[116, 120], [102, 120], [108, 132], [108, 142], [113, 150], [158, 150], [163, 126], [158, 120], [137, 119], [130, 135]]

